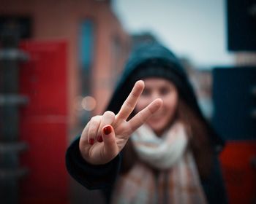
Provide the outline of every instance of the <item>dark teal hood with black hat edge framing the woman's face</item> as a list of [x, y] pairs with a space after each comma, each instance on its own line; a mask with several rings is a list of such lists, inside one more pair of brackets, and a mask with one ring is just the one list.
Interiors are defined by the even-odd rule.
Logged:
[[224, 145], [222, 138], [219, 138], [211, 125], [208, 124], [208, 121], [203, 117], [184, 67], [173, 52], [167, 50], [161, 44], [140, 44], [140, 46], [132, 51], [106, 110], [117, 114], [135, 82], [148, 77], [160, 77], [173, 82], [178, 90], [178, 97], [182, 98], [206, 124], [214, 144]]

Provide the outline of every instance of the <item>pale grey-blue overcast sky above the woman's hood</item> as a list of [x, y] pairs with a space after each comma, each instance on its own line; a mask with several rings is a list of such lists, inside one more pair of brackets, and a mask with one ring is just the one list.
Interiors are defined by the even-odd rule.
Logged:
[[129, 34], [150, 31], [197, 68], [234, 63], [225, 0], [113, 0], [112, 7]]

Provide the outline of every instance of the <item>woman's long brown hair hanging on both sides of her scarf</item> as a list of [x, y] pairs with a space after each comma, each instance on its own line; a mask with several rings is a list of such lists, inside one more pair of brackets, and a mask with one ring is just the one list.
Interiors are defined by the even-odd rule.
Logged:
[[[131, 116], [133, 115], [134, 113], [131, 114]], [[211, 146], [210, 135], [206, 124], [181, 97], [178, 98], [178, 107], [174, 120], [177, 119], [184, 124], [187, 135], [189, 136], [189, 147], [192, 149], [195, 157], [200, 178], [206, 178], [210, 173], [214, 158], [213, 146]], [[173, 122], [171, 121], [170, 125]], [[138, 159], [138, 155], [135, 153], [130, 140], [127, 141], [122, 153], [124, 162], [121, 163], [121, 173], [127, 173]]]

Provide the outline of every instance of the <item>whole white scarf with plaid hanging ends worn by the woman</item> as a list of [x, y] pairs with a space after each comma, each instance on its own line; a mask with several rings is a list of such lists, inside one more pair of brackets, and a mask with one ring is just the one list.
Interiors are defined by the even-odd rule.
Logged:
[[176, 122], [162, 138], [143, 125], [131, 139], [141, 162], [118, 178], [111, 203], [207, 203], [184, 125]]

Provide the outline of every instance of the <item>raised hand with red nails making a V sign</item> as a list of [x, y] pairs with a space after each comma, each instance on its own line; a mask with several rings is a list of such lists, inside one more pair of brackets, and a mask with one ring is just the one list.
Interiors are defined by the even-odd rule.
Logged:
[[105, 111], [103, 115], [91, 118], [80, 137], [79, 149], [84, 160], [94, 165], [113, 160], [124, 148], [129, 136], [162, 106], [162, 100], [157, 98], [127, 121], [143, 89], [144, 82], [136, 82], [118, 114]]

